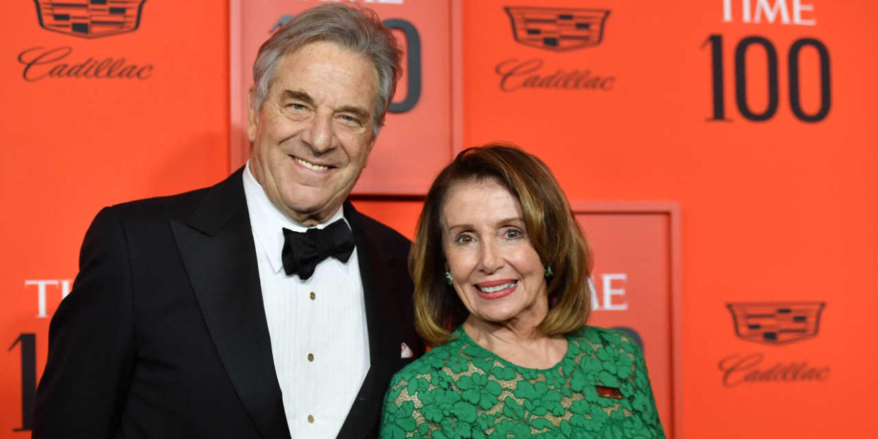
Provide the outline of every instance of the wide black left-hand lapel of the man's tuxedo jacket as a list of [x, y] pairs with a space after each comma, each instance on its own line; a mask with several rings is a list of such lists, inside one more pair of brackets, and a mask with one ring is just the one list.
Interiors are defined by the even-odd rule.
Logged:
[[263, 437], [289, 437], [271, 356], [241, 169], [206, 190], [191, 217], [171, 220], [205, 324]]

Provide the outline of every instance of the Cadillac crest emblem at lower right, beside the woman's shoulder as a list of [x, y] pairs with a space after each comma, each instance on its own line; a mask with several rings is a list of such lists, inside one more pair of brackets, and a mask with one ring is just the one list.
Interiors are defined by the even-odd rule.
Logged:
[[752, 302], [727, 304], [738, 338], [771, 345], [817, 335], [825, 302]]

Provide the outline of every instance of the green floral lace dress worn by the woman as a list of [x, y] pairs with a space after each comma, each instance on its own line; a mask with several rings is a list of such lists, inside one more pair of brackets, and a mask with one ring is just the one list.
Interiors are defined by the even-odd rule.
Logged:
[[393, 376], [382, 438], [665, 437], [644, 357], [619, 332], [583, 327], [544, 370], [454, 336]]

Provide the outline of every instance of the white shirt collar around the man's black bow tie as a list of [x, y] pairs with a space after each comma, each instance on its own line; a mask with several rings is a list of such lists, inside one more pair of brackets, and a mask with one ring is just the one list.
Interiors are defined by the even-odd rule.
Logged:
[[[268, 256], [271, 270], [277, 273], [284, 268], [284, 263], [281, 260], [281, 252], [284, 249], [283, 228], [286, 227], [293, 232], [305, 232], [308, 228], [313, 227], [302, 226], [295, 220], [286, 216], [286, 214], [281, 212], [276, 205], [271, 203], [268, 195], [266, 195], [263, 190], [263, 186], [259, 184], [253, 174], [250, 173], [249, 161], [247, 162], [247, 166], [244, 167], [243, 179], [244, 197], [247, 198], [247, 209], [250, 215], [250, 227], [253, 229], [253, 235], [255, 236], [256, 241], [259, 242], [265, 255]], [[344, 218], [342, 211], [342, 207], [339, 207], [332, 217], [314, 227], [327, 227], [338, 219], [344, 219], [345, 222], [348, 222], [348, 219]], [[348, 223], [348, 227], [350, 227], [350, 223]], [[259, 251], [258, 248], [256, 250]], [[336, 263], [342, 264], [342, 267], [347, 267], [346, 263], [342, 263], [335, 258], [332, 259]]]

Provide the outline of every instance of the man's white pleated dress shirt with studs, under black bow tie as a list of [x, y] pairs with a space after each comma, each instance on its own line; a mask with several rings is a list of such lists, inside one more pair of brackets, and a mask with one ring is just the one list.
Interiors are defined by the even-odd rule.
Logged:
[[[303, 281], [286, 276], [282, 228], [305, 232], [265, 195], [244, 169], [244, 195], [253, 228], [271, 355], [293, 438], [335, 437], [369, 371], [369, 335], [356, 248], [347, 263], [333, 257]], [[339, 208], [323, 228], [344, 218]], [[347, 221], [347, 219], [345, 219]]]

